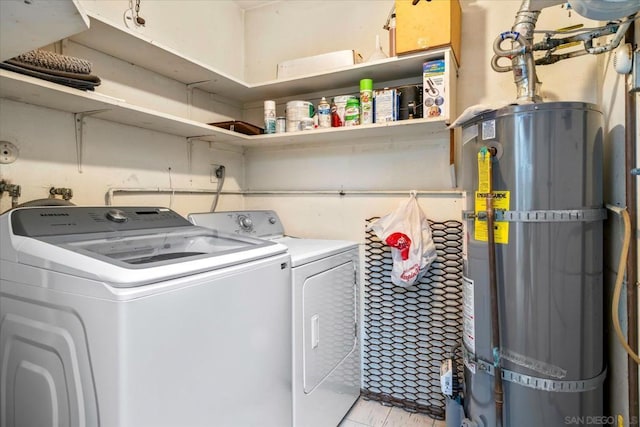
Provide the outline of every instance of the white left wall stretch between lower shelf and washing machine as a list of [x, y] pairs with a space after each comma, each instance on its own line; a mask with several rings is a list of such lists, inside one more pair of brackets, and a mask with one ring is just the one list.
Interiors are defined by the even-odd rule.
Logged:
[[[19, 184], [20, 202], [48, 197], [49, 188], [73, 190], [78, 205], [104, 205], [111, 187], [173, 187], [215, 189], [210, 165], [227, 167], [226, 189], [243, 185], [242, 155], [195, 142], [191, 170], [184, 138], [87, 117], [84, 126], [82, 173], [78, 171], [74, 117], [9, 100], [0, 100], [0, 140], [18, 146], [19, 158], [0, 164], [0, 179]], [[169, 171], [171, 168], [171, 171]], [[208, 211], [213, 195], [171, 197], [116, 195], [113, 204], [171, 206], [186, 215]], [[6, 194], [0, 211], [11, 207]], [[241, 207], [238, 197], [227, 196], [220, 208]]]

